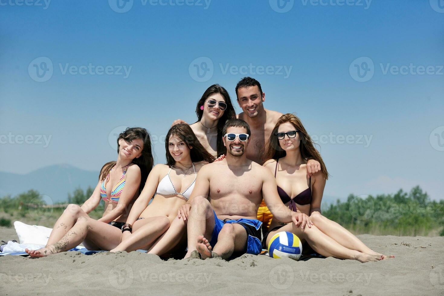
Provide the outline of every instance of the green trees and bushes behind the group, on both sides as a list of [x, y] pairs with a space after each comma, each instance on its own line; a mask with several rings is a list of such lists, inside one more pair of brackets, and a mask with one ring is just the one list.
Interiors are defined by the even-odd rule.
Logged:
[[[12, 220], [52, 227], [66, 205], [82, 205], [93, 189], [77, 188], [68, 193], [67, 202], [51, 205], [52, 201], [36, 190], [28, 190], [15, 197], [0, 198], [0, 226], [11, 226]], [[98, 219], [103, 213], [103, 201], [90, 213]], [[431, 201], [419, 186], [404, 192], [376, 196], [350, 194], [346, 201], [337, 200], [322, 211], [351, 232], [396, 236], [444, 236], [444, 200]]]

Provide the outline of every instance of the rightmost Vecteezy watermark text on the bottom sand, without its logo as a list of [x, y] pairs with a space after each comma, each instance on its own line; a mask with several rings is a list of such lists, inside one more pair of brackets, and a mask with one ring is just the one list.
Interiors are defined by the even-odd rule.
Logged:
[[361, 285], [368, 286], [370, 284], [370, 280], [372, 280], [373, 273], [366, 272], [321, 272], [321, 273], [313, 273], [310, 271], [304, 272], [303, 270], [299, 270], [299, 274], [304, 282], [311, 281], [313, 283], [360, 283]]

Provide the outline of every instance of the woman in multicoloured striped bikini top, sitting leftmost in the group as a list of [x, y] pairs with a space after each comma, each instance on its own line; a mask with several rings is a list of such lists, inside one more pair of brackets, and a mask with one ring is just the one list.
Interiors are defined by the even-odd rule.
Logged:
[[[117, 139], [117, 160], [102, 167], [91, 197], [82, 206], [67, 206], [45, 248], [26, 249], [26, 252], [31, 257], [43, 257], [67, 251], [82, 242], [90, 250], [109, 249], [119, 241], [120, 228], [127, 221], [131, 204], [144, 189], [152, 167], [153, 154], [147, 130], [127, 128]], [[105, 201], [105, 210], [99, 220], [94, 220], [88, 213], [97, 208], [101, 199]]]

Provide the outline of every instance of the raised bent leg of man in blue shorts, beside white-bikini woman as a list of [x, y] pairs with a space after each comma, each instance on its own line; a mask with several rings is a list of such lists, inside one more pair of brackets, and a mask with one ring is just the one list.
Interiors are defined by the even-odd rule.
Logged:
[[211, 239], [214, 225], [214, 213], [210, 201], [204, 197], [194, 197], [186, 225], [188, 252], [186, 252], [185, 258], [190, 257], [191, 253], [197, 251], [196, 245], [199, 235]]

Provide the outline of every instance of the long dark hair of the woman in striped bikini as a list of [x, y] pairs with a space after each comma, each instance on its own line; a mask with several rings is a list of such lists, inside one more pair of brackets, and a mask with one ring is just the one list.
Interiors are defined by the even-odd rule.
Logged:
[[[131, 142], [134, 139], [141, 139], [143, 141], [142, 154], [139, 158], [134, 158], [131, 162], [138, 165], [140, 168], [141, 179], [139, 192], [141, 192], [143, 187], [145, 186], [145, 182], [147, 181], [148, 175], [150, 174], [154, 164], [153, 153], [151, 151], [150, 134], [146, 129], [142, 127], [127, 127], [127, 129], [123, 133], [119, 134], [119, 138], [117, 138], [117, 154], [119, 154], [120, 139], [128, 142]], [[100, 170], [99, 180], [103, 180], [107, 177], [115, 163], [115, 161], [105, 163], [105, 165]]]

